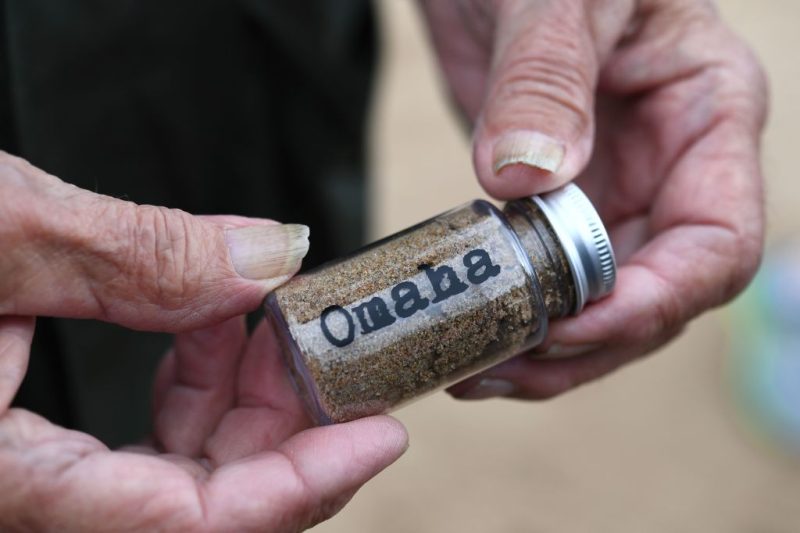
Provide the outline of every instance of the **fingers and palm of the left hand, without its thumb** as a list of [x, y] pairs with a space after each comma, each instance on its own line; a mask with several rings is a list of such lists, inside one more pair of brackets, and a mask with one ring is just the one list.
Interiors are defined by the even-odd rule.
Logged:
[[110, 451], [9, 409], [33, 319], [0, 318], [0, 529], [297, 531], [337, 512], [406, 447], [389, 417], [307, 429], [262, 323], [176, 337], [156, 382], [155, 443]]

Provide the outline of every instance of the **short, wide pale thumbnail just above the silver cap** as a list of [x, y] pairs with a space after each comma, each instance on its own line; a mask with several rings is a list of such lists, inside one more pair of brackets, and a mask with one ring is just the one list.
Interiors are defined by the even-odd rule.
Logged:
[[538, 131], [514, 131], [505, 134], [494, 146], [494, 173], [509, 165], [558, 172], [564, 162], [564, 144]]

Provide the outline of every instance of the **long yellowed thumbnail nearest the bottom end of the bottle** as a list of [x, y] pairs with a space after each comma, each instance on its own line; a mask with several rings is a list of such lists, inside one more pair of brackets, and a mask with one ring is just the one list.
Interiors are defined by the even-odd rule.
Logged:
[[308, 252], [308, 234], [308, 226], [301, 224], [269, 224], [229, 229], [225, 240], [240, 276], [267, 280], [300, 268]]

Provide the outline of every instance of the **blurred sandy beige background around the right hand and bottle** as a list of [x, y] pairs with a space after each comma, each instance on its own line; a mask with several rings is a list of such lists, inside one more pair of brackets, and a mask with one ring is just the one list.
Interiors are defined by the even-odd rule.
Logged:
[[[377, 4], [372, 237], [483, 196], [414, 3]], [[800, 2], [719, 5], [772, 84], [773, 251], [756, 284], [666, 349], [553, 401], [442, 393], [399, 411], [409, 451], [314, 531], [800, 531]]]

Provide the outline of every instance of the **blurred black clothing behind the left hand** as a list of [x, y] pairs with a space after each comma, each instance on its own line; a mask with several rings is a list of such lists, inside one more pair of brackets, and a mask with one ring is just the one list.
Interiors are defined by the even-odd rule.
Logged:
[[[80, 187], [300, 222], [355, 248], [366, 0], [0, 0], [0, 148]], [[17, 404], [111, 445], [149, 429], [166, 335], [40, 319]]]

